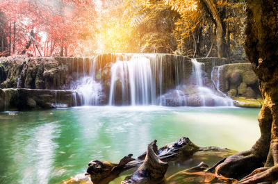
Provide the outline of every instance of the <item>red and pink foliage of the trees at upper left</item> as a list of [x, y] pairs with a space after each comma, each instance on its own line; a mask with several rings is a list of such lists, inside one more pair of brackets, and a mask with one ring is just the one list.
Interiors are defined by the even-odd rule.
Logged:
[[0, 12], [10, 23], [5, 30], [7, 40], [15, 41], [15, 53], [24, 51], [31, 40], [34, 47], [26, 50], [33, 55], [38, 50], [45, 56], [60, 53], [60, 47], [67, 48], [68, 55], [82, 54], [76, 51], [81, 52], [81, 42], [95, 27], [95, 2], [89, 0], [5, 0]]

